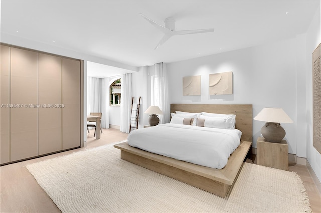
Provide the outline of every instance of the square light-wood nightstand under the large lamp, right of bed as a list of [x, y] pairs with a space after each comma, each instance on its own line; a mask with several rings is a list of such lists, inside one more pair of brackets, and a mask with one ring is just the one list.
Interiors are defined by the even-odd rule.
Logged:
[[286, 140], [282, 140], [280, 143], [273, 143], [266, 142], [263, 137], [259, 137], [256, 141], [256, 152], [256, 163], [258, 165], [288, 170], [289, 152]]

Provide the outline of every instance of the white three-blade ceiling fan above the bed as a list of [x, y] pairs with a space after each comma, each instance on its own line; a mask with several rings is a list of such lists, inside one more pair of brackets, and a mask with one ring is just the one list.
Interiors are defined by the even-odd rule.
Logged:
[[167, 41], [170, 37], [174, 35], [186, 35], [186, 34], [196, 34], [196, 33], [204, 33], [204, 32], [214, 32], [214, 29], [196, 29], [196, 30], [180, 30], [175, 31], [175, 19], [174, 18], [166, 18], [164, 20], [165, 26], [156, 23], [145, 15], [139, 13], [143, 18], [145, 18], [149, 23], [151, 23], [154, 27], [161, 30], [164, 33], [163, 38], [159, 41], [158, 45], [155, 49], [161, 46], [165, 41]]

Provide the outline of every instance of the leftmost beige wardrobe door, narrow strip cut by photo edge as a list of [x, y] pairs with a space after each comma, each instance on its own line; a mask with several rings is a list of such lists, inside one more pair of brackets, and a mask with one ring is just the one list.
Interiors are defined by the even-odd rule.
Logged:
[[0, 45], [0, 164], [10, 161], [10, 47]]

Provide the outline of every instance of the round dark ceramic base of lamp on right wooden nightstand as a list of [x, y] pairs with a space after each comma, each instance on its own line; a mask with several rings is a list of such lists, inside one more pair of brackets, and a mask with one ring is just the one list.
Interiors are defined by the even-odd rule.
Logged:
[[285, 130], [280, 123], [266, 122], [261, 128], [261, 133], [268, 142], [279, 143], [285, 137]]

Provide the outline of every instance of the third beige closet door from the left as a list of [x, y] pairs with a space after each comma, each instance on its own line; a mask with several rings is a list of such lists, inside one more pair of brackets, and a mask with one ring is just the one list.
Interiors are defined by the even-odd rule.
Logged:
[[62, 58], [38, 54], [38, 154], [62, 150]]

